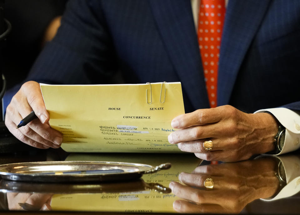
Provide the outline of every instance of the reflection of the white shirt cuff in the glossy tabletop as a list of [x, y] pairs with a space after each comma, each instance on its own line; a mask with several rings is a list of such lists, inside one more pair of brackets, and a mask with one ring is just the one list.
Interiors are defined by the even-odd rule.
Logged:
[[287, 179], [287, 185], [284, 186], [279, 193], [271, 199], [262, 199], [263, 201], [274, 201], [281, 198], [287, 198], [300, 192], [300, 158], [296, 155], [278, 156], [282, 162]]

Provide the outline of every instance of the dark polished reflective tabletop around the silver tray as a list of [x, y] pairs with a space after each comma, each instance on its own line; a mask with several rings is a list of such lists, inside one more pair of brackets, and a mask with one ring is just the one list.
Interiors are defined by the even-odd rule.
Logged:
[[[8, 144], [9, 143], [9, 144]], [[13, 137], [2, 137], [0, 144], [12, 148], [0, 154], [0, 164], [35, 161], [119, 161], [172, 168], [143, 175], [133, 181], [107, 183], [30, 183], [0, 182], [0, 214], [123, 214], [123, 213], [213, 213], [213, 214], [299, 214], [300, 155], [258, 156], [251, 160], [210, 164], [193, 154], [70, 154], [62, 149], [39, 150], [27, 147]], [[186, 184], [178, 197], [168, 188], [171, 181]], [[287, 183], [280, 178], [285, 175]], [[214, 186], [203, 186], [212, 178]], [[192, 185], [191, 185], [192, 184]], [[178, 191], [177, 191], [178, 192]], [[279, 196], [279, 197], [278, 197]], [[272, 201], [272, 198], [278, 198]], [[270, 201], [271, 199], [271, 201]], [[174, 202], [186, 208], [176, 209]], [[21, 204], [20, 204], [21, 203]], [[26, 203], [26, 204], [24, 204]], [[21, 206], [22, 207], [21, 207]]]

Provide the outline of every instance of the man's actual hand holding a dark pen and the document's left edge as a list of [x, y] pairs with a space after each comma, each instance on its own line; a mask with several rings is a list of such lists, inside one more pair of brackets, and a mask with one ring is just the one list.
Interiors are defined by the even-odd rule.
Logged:
[[[20, 121], [31, 111], [38, 119], [32, 120], [26, 126], [16, 129]], [[49, 113], [46, 110], [39, 83], [28, 81], [12, 97], [6, 109], [5, 125], [17, 139], [40, 149], [59, 148], [63, 135], [52, 129], [48, 123]]]

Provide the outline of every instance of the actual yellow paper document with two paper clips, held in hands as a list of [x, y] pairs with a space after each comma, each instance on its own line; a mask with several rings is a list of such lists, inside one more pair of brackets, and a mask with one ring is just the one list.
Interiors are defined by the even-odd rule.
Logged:
[[180, 82], [41, 84], [41, 90], [68, 152], [180, 152], [168, 142], [171, 120], [184, 113]]

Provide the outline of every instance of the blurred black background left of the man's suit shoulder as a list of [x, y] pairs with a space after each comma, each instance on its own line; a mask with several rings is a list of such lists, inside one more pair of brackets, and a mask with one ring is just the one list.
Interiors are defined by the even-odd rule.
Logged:
[[4, 13], [12, 31], [2, 50], [7, 89], [21, 82], [43, 46], [49, 24], [63, 14], [68, 0], [5, 0]]

